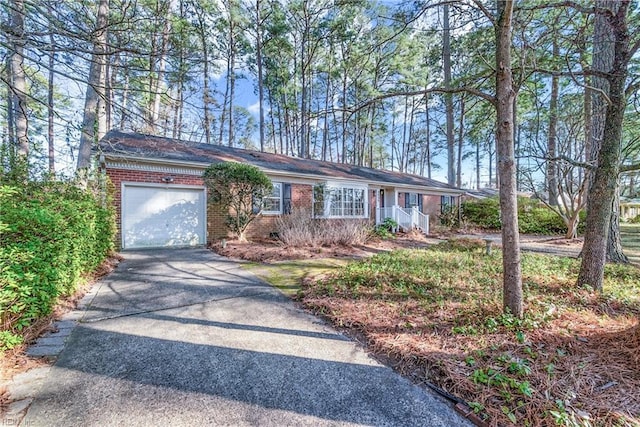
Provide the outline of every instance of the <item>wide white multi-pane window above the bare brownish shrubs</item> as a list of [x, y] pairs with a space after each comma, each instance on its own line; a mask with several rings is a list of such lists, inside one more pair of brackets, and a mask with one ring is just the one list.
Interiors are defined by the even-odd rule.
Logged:
[[356, 185], [322, 184], [313, 190], [317, 218], [366, 218], [367, 189]]

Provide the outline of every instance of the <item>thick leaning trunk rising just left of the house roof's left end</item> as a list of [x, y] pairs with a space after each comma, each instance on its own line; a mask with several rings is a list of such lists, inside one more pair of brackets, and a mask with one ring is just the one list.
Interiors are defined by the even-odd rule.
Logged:
[[89, 67], [89, 80], [84, 100], [84, 114], [82, 131], [80, 134], [80, 148], [78, 150], [77, 169], [87, 169], [91, 165], [91, 146], [96, 142], [95, 126], [97, 120], [98, 99], [100, 93], [102, 59], [107, 44], [107, 18], [109, 16], [109, 0], [100, 0], [96, 17], [95, 41], [93, 55]]

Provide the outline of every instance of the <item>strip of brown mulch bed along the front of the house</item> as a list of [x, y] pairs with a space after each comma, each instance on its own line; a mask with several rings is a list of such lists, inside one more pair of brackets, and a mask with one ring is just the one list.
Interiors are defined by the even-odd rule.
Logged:
[[393, 239], [371, 239], [361, 246], [290, 247], [278, 240], [254, 240], [251, 242], [227, 241], [225, 245], [216, 243], [211, 249], [233, 259], [274, 262], [314, 258], [362, 258], [394, 249], [425, 248], [436, 238], [429, 238], [419, 232], [398, 234]]

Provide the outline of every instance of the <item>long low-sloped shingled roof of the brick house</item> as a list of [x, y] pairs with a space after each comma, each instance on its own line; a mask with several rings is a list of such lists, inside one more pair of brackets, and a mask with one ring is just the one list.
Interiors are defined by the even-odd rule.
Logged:
[[167, 160], [202, 164], [203, 167], [211, 163], [236, 161], [254, 165], [265, 172], [324, 177], [328, 180], [332, 178], [355, 179], [367, 182], [429, 187], [452, 193], [462, 192], [456, 187], [419, 175], [115, 130], [104, 136], [100, 141], [98, 151], [108, 157], [131, 160]]

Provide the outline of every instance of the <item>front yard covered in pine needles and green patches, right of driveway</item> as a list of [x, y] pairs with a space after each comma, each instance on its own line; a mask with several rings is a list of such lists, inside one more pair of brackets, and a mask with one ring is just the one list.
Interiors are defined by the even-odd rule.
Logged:
[[578, 260], [523, 254], [526, 314], [502, 311], [502, 260], [482, 242], [383, 253], [307, 281], [300, 299], [489, 425], [640, 423], [640, 271], [607, 266], [576, 288]]

